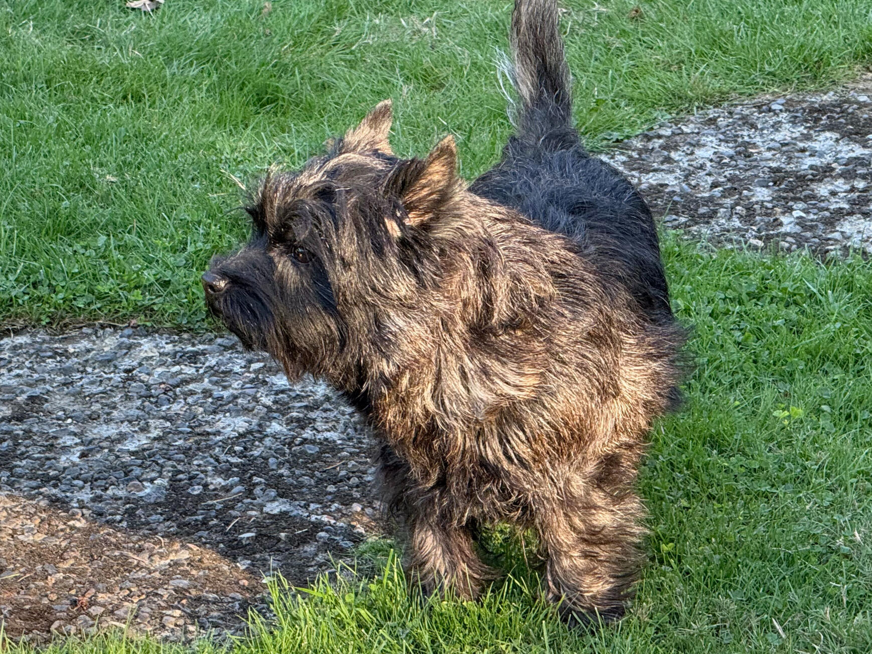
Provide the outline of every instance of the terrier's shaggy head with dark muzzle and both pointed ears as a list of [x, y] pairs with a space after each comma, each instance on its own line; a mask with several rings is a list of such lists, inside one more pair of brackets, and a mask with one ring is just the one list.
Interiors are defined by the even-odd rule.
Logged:
[[428, 233], [462, 189], [454, 142], [402, 160], [391, 121], [386, 100], [299, 172], [269, 173], [247, 208], [249, 242], [202, 276], [209, 309], [291, 377], [351, 374], [337, 368], [381, 346], [385, 310], [435, 283]]

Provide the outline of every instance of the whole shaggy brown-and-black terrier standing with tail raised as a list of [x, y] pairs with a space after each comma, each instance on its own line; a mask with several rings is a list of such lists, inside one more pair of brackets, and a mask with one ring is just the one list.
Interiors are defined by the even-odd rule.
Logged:
[[570, 621], [619, 617], [639, 568], [634, 492], [651, 420], [678, 399], [681, 332], [642, 198], [571, 125], [553, 0], [517, 0], [521, 97], [471, 187], [453, 140], [387, 143], [389, 103], [299, 173], [273, 173], [208, 305], [290, 376], [342, 390], [383, 446], [386, 499], [426, 591], [474, 597], [479, 523], [535, 528]]

